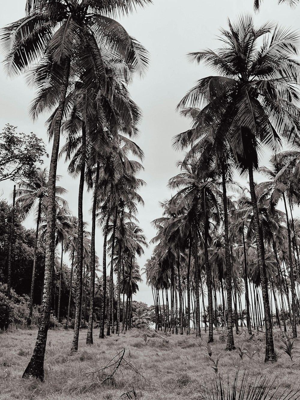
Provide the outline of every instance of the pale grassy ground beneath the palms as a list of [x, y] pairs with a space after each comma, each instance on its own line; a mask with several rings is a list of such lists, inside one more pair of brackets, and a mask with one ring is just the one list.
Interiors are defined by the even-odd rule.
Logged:
[[[249, 370], [254, 379], [265, 374], [270, 378], [270, 384], [274, 381], [272, 386], [280, 390], [300, 389], [300, 358], [295, 357], [291, 362], [288, 355], [279, 349], [279, 330], [274, 332], [275, 348], [279, 356], [278, 362], [274, 364], [264, 364], [264, 332], [255, 334], [251, 340], [247, 340], [246, 334], [234, 335], [236, 346], [245, 342], [246, 348], [252, 347], [259, 351], [252, 359], [245, 355], [241, 359], [238, 350], [226, 352], [226, 344], [222, 342], [224, 333], [221, 330], [218, 335], [214, 331], [215, 342], [211, 346], [213, 359], [221, 353], [218, 373], [226, 382], [227, 374], [232, 381], [239, 370], [238, 379], [241, 380], [244, 371]], [[151, 330], [155, 337], [150, 338], [146, 344], [141, 337], [144, 334], [142, 330], [133, 329], [126, 335], [112, 335], [100, 340], [97, 329], [94, 331], [94, 345], [87, 346], [86, 330], [81, 330], [78, 353], [71, 356], [73, 332], [62, 329], [48, 332], [44, 382], [32, 378], [24, 380], [21, 378], [22, 373], [32, 355], [36, 334], [37, 330], [34, 329], [0, 334], [1, 400], [127, 399], [135, 398], [133, 392], [127, 394], [133, 388], [138, 399], [200, 400], [206, 398], [204, 394], [211, 390], [211, 382], [216, 377], [211, 368], [213, 363], [204, 355], [207, 354], [206, 336], [200, 340], [195, 334], [172, 335], [166, 343], [160, 334]], [[299, 347], [298, 340], [295, 340], [294, 354], [299, 354]], [[99, 370], [118, 361], [124, 349], [124, 358], [113, 378], [102, 383], [107, 376], [112, 375], [118, 363], [104, 371]], [[296, 398], [300, 398], [300, 395]]]

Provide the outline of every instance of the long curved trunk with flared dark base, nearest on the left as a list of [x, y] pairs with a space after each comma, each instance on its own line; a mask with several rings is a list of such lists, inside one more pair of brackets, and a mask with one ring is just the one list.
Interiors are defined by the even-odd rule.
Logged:
[[55, 125], [53, 130], [53, 146], [50, 161], [50, 170], [48, 178], [48, 208], [47, 208], [47, 232], [46, 232], [46, 259], [44, 274], [43, 301], [38, 329], [38, 337], [33, 350], [32, 358], [24, 371], [22, 378], [33, 376], [34, 378], [44, 380], [44, 356], [46, 349], [46, 340], [50, 319], [50, 306], [52, 298], [52, 282], [54, 270], [55, 254], [55, 183], [56, 168], [58, 160], [60, 127], [64, 113], [64, 104], [70, 76], [70, 58], [64, 61], [64, 78], [60, 92], [59, 104], [56, 110]]

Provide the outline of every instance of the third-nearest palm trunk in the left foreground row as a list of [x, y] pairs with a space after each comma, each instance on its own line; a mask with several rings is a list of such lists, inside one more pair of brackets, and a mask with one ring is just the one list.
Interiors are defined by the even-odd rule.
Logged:
[[94, 182], [93, 209], [92, 209], [90, 310], [88, 313], [88, 333], [86, 334], [86, 344], [93, 344], [93, 317], [94, 317], [95, 267], [96, 267], [95, 232], [96, 232], [96, 210], [97, 210], [99, 174], [100, 174], [100, 163], [97, 162], [96, 177]]

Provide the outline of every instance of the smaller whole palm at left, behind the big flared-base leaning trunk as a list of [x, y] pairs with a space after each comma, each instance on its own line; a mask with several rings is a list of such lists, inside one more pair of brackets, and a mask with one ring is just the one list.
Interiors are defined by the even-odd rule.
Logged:
[[[56, 180], [60, 177], [57, 176]], [[55, 201], [57, 204], [61, 206], [67, 206], [66, 200], [62, 197], [63, 194], [66, 194], [66, 189], [56, 186], [56, 196]], [[48, 172], [46, 168], [39, 168], [37, 170], [36, 176], [30, 180], [22, 180], [18, 182], [18, 188], [16, 189], [16, 204], [20, 206], [22, 216], [26, 217], [30, 214], [30, 212], [34, 212], [35, 220], [36, 220], [36, 237], [34, 241], [34, 257], [33, 257], [33, 265], [32, 265], [32, 278], [31, 278], [31, 287], [30, 287], [30, 301], [29, 301], [29, 317], [28, 317], [28, 325], [31, 325], [32, 318], [32, 305], [33, 305], [33, 294], [34, 294], [34, 278], [35, 278], [35, 270], [36, 270], [36, 256], [38, 249], [38, 232], [39, 226], [41, 222], [42, 213], [45, 212], [46, 202], [48, 196]], [[38, 202], [38, 204], [36, 204]]]

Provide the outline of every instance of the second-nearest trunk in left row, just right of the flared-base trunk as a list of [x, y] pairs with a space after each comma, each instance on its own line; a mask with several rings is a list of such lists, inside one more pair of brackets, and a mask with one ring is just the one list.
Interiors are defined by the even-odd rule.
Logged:
[[82, 268], [83, 268], [83, 216], [82, 201], [84, 189], [84, 170], [86, 158], [86, 126], [82, 123], [82, 145], [81, 145], [81, 168], [80, 182], [78, 191], [78, 247], [77, 247], [77, 276], [76, 276], [76, 312], [74, 324], [74, 337], [72, 342], [71, 354], [78, 351], [79, 329], [81, 324], [82, 309]]

